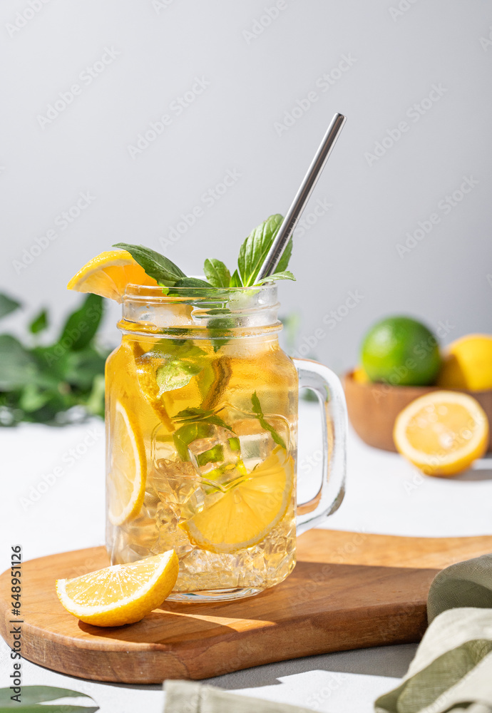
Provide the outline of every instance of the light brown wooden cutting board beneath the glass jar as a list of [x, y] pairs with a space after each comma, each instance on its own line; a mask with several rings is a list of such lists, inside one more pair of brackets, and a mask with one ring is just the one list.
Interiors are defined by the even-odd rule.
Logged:
[[[54, 588], [56, 578], [106, 567], [106, 550], [51, 555], [22, 565], [22, 655], [72, 676], [150, 684], [416, 642], [426, 628], [426, 595], [436, 572], [490, 551], [492, 536], [311, 530], [299, 538], [294, 572], [277, 587], [235, 602], [164, 602], [141, 622], [113, 629], [78, 621]], [[0, 633], [12, 645], [9, 574], [0, 577]]]

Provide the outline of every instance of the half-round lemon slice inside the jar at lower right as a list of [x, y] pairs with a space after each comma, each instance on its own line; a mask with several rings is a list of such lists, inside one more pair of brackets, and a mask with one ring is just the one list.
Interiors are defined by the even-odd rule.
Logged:
[[292, 457], [277, 446], [247, 479], [180, 527], [195, 545], [211, 552], [256, 545], [285, 515], [293, 473]]

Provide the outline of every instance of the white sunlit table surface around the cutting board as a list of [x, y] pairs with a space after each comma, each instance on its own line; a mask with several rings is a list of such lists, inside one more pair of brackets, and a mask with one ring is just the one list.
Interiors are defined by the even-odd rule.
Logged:
[[[319, 451], [316, 407], [302, 404], [299, 468], [304, 491], [319, 477], [309, 468]], [[1, 429], [1, 556], [20, 543], [24, 559], [103, 544], [104, 427], [101, 421], [53, 429]], [[53, 481], [49, 474], [61, 468]], [[308, 472], [310, 471], [310, 472]], [[56, 471], [59, 473], [59, 471]], [[43, 476], [47, 477], [48, 485]], [[36, 499], [36, 493], [43, 491]], [[477, 461], [452, 480], [426, 478], [393, 453], [349, 436], [347, 495], [327, 526], [338, 530], [426, 537], [491, 533], [492, 460]], [[330, 713], [369, 713], [374, 699], [394, 687], [414, 656], [414, 645], [340, 652], [260, 666], [208, 682], [246, 696]], [[9, 647], [0, 644], [0, 687], [9, 685]], [[158, 713], [159, 686], [103, 684], [63, 676], [23, 662], [25, 685], [46, 684], [90, 694], [101, 713]]]

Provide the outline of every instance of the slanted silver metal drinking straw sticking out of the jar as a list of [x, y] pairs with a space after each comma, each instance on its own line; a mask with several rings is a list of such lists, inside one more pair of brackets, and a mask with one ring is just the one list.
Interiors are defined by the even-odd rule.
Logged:
[[260, 272], [258, 272], [257, 279], [263, 279], [264, 277], [269, 277], [275, 272], [275, 268], [280, 262], [282, 257], [282, 252], [284, 252], [287, 242], [294, 231], [294, 227], [297, 225], [299, 217], [302, 215], [304, 207], [306, 207], [307, 200], [312, 193], [314, 186], [317, 183], [319, 176], [324, 168], [325, 163], [327, 163], [330, 153], [337, 141], [340, 131], [347, 120], [347, 117], [343, 114], [335, 114], [332, 118], [327, 133], [325, 133], [319, 148], [314, 155], [314, 158], [307, 170], [307, 174], [304, 176], [304, 180], [299, 186], [299, 190], [296, 193], [292, 205], [287, 211], [284, 222], [280, 226], [280, 230], [277, 233], [277, 237], [272, 242], [272, 247], [270, 247], [270, 252], [268, 253], [265, 262], [263, 263]]

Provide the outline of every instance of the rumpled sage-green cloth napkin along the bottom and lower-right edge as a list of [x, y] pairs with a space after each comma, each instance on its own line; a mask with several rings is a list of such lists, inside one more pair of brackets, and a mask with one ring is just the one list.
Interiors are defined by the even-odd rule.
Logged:
[[[492, 555], [446, 568], [429, 590], [429, 628], [376, 713], [492, 713]], [[166, 681], [165, 713], [309, 713], [194, 681]]]

